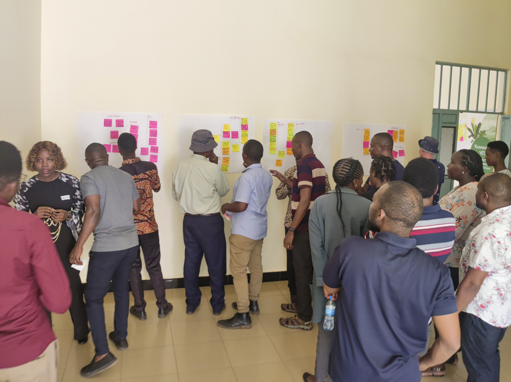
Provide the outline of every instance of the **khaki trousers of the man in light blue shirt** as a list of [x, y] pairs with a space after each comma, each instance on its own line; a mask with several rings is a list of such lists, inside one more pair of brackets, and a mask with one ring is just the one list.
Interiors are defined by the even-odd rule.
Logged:
[[[257, 301], [263, 283], [263, 240], [252, 240], [242, 235], [229, 236], [230, 274], [238, 295], [238, 312], [247, 313], [249, 300]], [[250, 271], [250, 286], [247, 281]]]

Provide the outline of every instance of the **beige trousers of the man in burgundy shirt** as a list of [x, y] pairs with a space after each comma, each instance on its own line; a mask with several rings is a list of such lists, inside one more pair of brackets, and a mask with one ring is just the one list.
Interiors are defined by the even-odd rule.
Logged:
[[0, 369], [0, 382], [57, 382], [59, 340], [53, 341], [34, 361]]

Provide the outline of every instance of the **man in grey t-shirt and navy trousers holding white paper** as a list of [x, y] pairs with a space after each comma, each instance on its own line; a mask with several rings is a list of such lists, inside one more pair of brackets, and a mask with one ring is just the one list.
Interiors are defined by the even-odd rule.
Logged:
[[90, 144], [85, 150], [85, 162], [91, 169], [80, 179], [86, 211], [82, 231], [69, 261], [82, 265], [83, 245], [94, 232], [85, 306], [96, 356], [80, 371], [82, 376], [90, 377], [117, 362], [108, 349], [103, 309], [103, 298], [108, 293], [110, 281], [115, 295], [115, 319], [114, 331], [108, 337], [118, 350], [128, 348], [128, 280], [138, 251], [133, 213], [140, 212], [140, 199], [133, 178], [108, 165], [108, 154], [103, 145]]

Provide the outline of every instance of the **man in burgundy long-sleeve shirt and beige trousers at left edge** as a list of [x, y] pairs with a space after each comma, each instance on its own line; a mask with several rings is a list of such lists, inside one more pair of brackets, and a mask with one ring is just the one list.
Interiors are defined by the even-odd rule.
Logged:
[[71, 290], [48, 228], [9, 202], [21, 156], [0, 141], [0, 380], [57, 381], [58, 340], [45, 313], [64, 314]]

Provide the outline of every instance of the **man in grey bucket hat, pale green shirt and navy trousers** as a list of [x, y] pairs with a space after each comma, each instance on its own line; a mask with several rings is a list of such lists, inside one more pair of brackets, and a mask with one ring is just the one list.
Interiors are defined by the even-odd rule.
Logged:
[[190, 146], [193, 155], [179, 163], [172, 176], [172, 197], [184, 213], [183, 273], [189, 315], [194, 314], [202, 296], [198, 278], [203, 256], [210, 274], [213, 314], [219, 316], [225, 309], [227, 260], [220, 198], [229, 192], [229, 183], [213, 152], [217, 146], [211, 131], [197, 130]]

